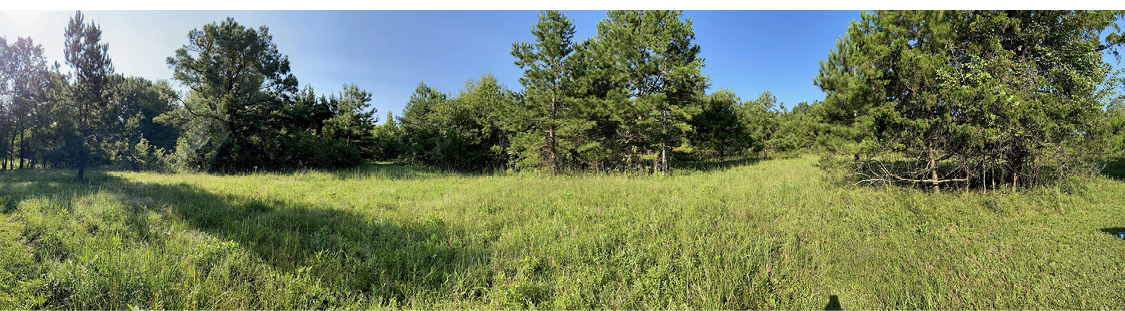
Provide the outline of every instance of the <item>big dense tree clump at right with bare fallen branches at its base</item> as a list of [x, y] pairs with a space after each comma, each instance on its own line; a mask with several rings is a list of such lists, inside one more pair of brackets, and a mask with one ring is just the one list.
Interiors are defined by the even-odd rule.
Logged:
[[1120, 16], [864, 12], [847, 36], [850, 68], [866, 71], [848, 92], [873, 100], [873, 139], [857, 172], [935, 192], [942, 184], [1024, 186], [1102, 157], [1109, 66], [1101, 51], [1119, 39], [1102, 43], [1099, 34]]

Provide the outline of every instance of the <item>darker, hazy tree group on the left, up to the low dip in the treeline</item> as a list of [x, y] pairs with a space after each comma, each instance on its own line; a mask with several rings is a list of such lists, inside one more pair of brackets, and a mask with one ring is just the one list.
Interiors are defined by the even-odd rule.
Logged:
[[63, 72], [32, 38], [0, 37], [0, 169], [240, 171], [332, 168], [372, 157], [371, 95], [297, 88], [269, 29], [233, 19], [188, 34], [170, 82], [116, 73], [101, 29], [75, 12]]

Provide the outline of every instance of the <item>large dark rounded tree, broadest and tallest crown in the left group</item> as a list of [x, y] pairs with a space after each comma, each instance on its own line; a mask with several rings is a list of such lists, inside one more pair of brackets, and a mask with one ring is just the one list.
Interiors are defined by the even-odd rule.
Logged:
[[189, 89], [182, 100], [186, 133], [177, 146], [181, 161], [206, 170], [277, 165], [281, 156], [272, 143], [289, 121], [285, 106], [297, 92], [297, 78], [268, 27], [255, 30], [233, 18], [204, 25], [188, 33], [188, 44], [168, 64]]

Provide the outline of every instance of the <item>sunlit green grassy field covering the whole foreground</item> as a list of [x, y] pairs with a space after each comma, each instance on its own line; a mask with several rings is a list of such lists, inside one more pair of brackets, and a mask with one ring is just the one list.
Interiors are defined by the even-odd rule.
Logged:
[[825, 181], [372, 165], [0, 172], [0, 309], [1082, 309], [1125, 305], [1125, 183]]

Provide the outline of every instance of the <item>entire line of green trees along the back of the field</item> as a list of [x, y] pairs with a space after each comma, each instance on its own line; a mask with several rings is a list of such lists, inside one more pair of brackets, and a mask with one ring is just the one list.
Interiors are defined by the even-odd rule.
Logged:
[[[639, 170], [820, 151], [854, 183], [1037, 185], [1120, 157], [1122, 86], [1102, 55], [1120, 11], [875, 11], [820, 63], [825, 99], [791, 108], [701, 73], [681, 11], [610, 11], [591, 38], [542, 11], [512, 45], [522, 90], [490, 74], [457, 94], [420, 83], [377, 124], [371, 94], [298, 88], [269, 28], [228, 18], [188, 34], [173, 80], [115, 73], [76, 12], [66, 64], [0, 38], [0, 168], [245, 171], [394, 160], [456, 170]], [[1102, 38], [1104, 30], [1113, 30]]]

